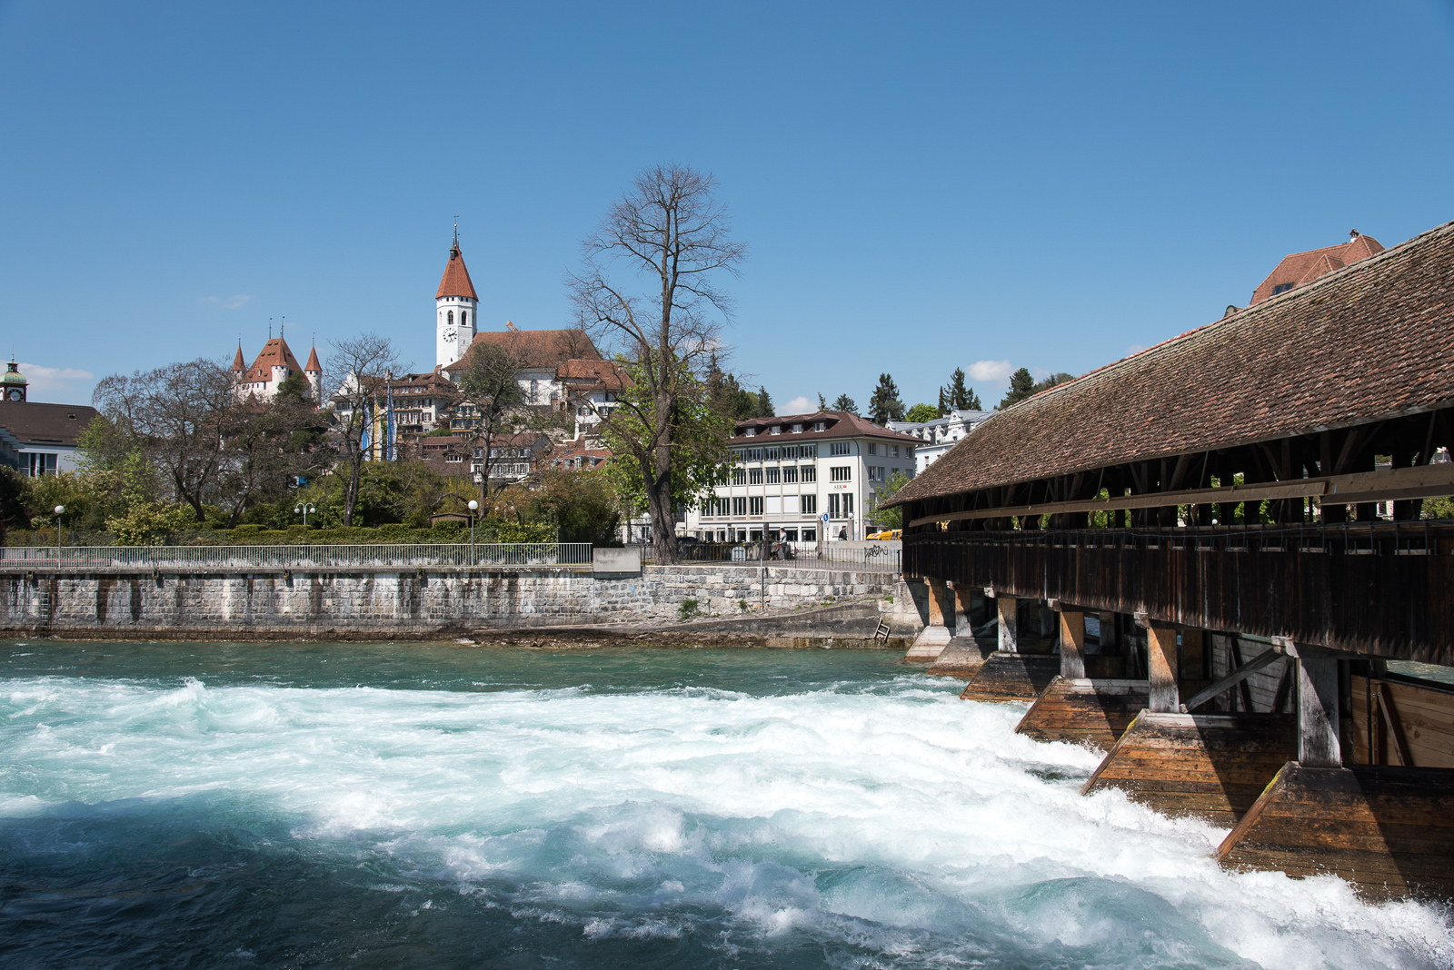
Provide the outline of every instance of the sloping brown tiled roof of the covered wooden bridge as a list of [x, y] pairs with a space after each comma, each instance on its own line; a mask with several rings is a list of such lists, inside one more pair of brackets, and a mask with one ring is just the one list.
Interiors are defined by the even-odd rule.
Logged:
[[1454, 404], [1454, 222], [996, 412], [894, 504]]

